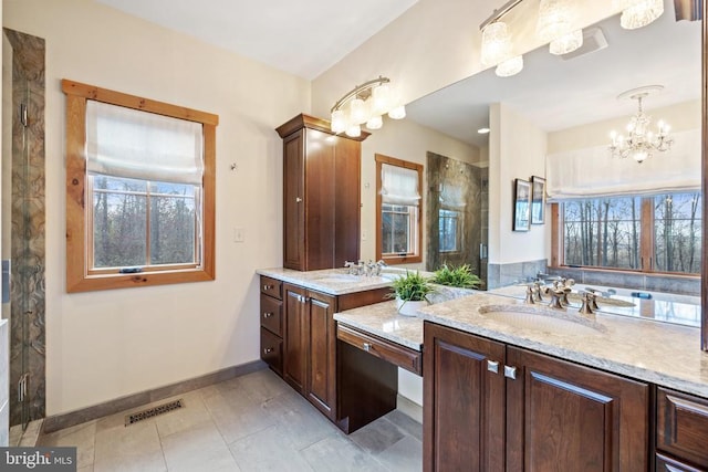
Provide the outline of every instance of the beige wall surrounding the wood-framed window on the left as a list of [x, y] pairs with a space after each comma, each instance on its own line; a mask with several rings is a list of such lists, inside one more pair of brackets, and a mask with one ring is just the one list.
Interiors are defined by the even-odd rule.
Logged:
[[[46, 40], [48, 415], [258, 359], [254, 270], [282, 263], [273, 129], [310, 84], [90, 0], [6, 0], [3, 24]], [[219, 115], [215, 282], [65, 293], [64, 77]]]

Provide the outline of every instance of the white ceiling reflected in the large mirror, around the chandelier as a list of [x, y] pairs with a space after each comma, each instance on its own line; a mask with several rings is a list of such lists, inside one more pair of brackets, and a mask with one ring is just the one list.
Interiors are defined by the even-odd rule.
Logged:
[[482, 146], [489, 104], [502, 102], [541, 129], [554, 132], [629, 116], [636, 101], [617, 95], [644, 85], [664, 91], [644, 102], [645, 109], [700, 97], [701, 23], [677, 22], [673, 2], [648, 27], [627, 31], [618, 15], [597, 24], [608, 46], [564, 61], [540, 48], [524, 55], [523, 71], [498, 77], [487, 70], [407, 105], [408, 119], [457, 139]]

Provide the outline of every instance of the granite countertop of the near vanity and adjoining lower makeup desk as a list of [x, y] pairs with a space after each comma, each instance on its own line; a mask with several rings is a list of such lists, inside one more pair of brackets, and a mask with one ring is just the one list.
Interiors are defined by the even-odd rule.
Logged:
[[[482, 313], [492, 306], [540, 313], [525, 323], [523, 315], [521, 323], [512, 323]], [[421, 345], [423, 322], [429, 321], [708, 398], [708, 353], [700, 350], [699, 328], [613, 314], [583, 316], [574, 308], [560, 316], [582, 318], [582, 323], [556, 322], [544, 316], [549, 310], [508, 295], [478, 292], [427, 306], [418, 312], [419, 318], [398, 315], [393, 302], [336, 313], [334, 318], [410, 348]]]

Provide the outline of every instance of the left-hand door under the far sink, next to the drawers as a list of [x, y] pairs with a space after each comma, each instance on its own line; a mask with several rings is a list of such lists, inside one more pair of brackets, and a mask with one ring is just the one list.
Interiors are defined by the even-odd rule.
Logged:
[[304, 394], [308, 361], [306, 291], [295, 285], [283, 284], [283, 292], [285, 295], [283, 378], [292, 388]]

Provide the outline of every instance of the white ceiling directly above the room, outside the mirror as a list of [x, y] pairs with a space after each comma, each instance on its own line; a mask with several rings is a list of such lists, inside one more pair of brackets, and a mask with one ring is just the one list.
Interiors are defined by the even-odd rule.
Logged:
[[312, 80], [418, 0], [96, 0]]

